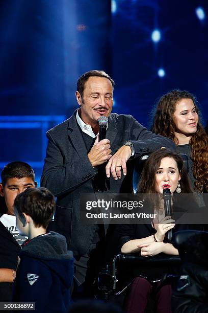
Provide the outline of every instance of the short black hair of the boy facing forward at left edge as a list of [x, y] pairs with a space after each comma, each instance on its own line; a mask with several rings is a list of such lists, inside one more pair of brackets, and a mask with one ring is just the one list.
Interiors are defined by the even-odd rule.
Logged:
[[5, 187], [9, 178], [30, 177], [35, 183], [35, 173], [32, 167], [25, 162], [15, 161], [8, 163], [2, 170], [2, 185]]

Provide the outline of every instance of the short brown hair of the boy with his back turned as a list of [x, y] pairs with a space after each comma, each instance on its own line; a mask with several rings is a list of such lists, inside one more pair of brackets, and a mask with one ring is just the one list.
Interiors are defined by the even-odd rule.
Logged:
[[46, 188], [30, 188], [18, 194], [14, 200], [14, 209], [22, 216], [29, 215], [36, 227], [47, 228], [56, 208], [54, 195]]

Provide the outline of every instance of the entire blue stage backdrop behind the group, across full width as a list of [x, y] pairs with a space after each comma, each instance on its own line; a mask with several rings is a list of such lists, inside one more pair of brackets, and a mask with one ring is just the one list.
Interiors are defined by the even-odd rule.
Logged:
[[77, 77], [90, 69], [116, 81], [113, 110], [145, 126], [173, 88], [194, 93], [206, 121], [207, 2], [2, 0], [0, 9], [1, 169], [28, 162], [39, 182], [46, 129], [73, 113]]

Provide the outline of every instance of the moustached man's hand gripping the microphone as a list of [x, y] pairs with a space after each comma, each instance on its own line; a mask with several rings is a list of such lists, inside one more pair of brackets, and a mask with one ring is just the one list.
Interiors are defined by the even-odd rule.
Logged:
[[110, 147], [108, 139], [98, 142], [98, 138], [96, 138], [93, 147], [88, 153], [88, 158], [93, 167], [107, 162], [112, 157]]

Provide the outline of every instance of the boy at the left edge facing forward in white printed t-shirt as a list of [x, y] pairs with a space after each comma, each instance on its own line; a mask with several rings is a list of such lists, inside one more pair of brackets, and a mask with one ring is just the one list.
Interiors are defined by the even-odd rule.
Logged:
[[18, 254], [27, 239], [16, 229], [13, 211], [15, 197], [25, 189], [36, 186], [32, 167], [24, 162], [11, 162], [2, 171], [0, 195], [0, 302], [12, 301], [12, 282], [16, 276]]

